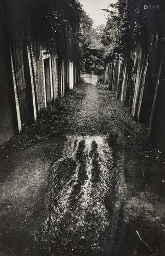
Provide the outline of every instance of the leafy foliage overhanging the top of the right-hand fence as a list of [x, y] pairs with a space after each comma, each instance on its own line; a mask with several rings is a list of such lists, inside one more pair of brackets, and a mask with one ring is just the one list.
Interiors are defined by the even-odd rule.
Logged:
[[150, 7], [152, 4], [161, 6], [159, 0], [143, 2], [117, 0], [116, 4], [111, 4], [108, 9], [104, 9], [108, 13], [102, 35], [106, 56], [113, 51], [129, 51], [140, 41], [147, 42], [153, 30], [159, 30], [161, 8], [144, 10], [144, 5]]

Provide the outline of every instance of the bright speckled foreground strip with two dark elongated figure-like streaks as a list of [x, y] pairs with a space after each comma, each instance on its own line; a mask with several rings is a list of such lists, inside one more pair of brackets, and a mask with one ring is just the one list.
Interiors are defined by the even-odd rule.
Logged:
[[114, 170], [106, 137], [68, 136], [53, 168], [44, 243], [55, 255], [108, 255]]

